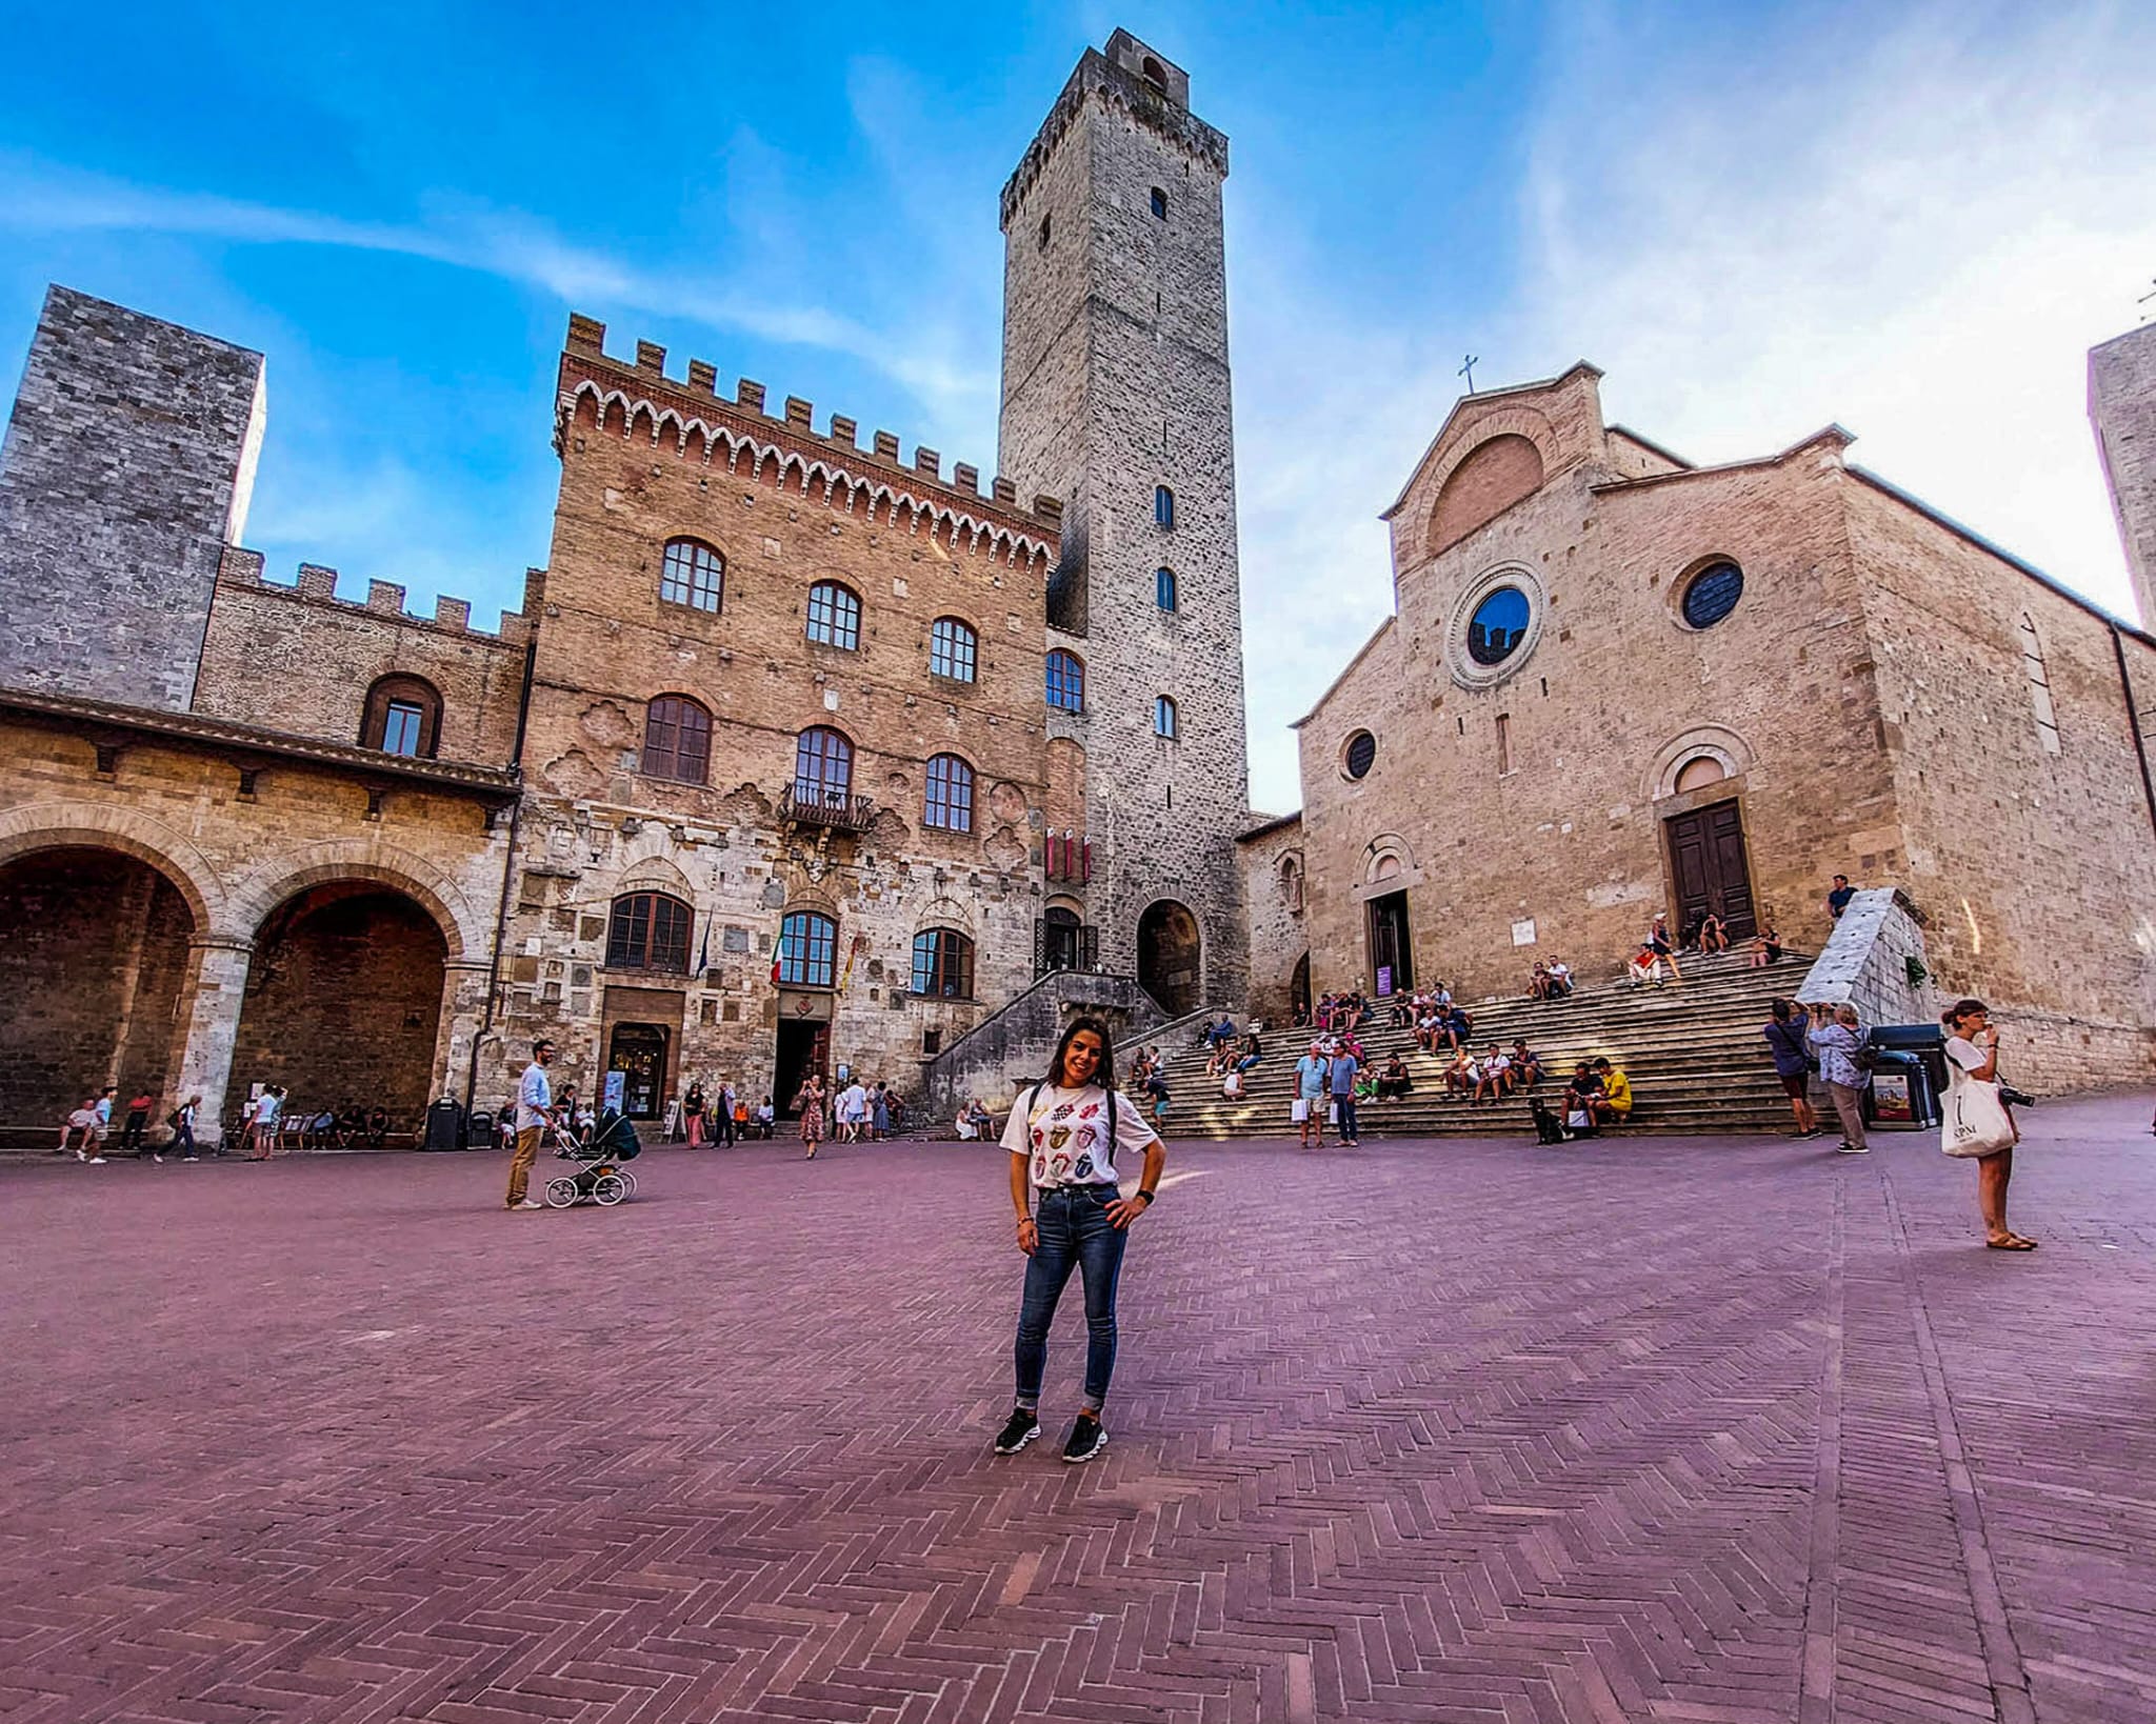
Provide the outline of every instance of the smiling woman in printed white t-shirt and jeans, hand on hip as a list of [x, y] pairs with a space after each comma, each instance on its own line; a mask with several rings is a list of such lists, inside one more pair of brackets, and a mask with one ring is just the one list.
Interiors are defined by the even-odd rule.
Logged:
[[[1102, 1407], [1115, 1371], [1115, 1282], [1130, 1224], [1153, 1207], [1169, 1149], [1115, 1086], [1115, 1045], [1097, 1017], [1063, 1030], [1048, 1080], [1018, 1093], [1003, 1131], [1011, 1151], [1011, 1207], [1018, 1250], [1026, 1254], [1026, 1293], [1018, 1308], [1018, 1394], [998, 1455], [1015, 1455], [1041, 1433], [1041, 1377], [1048, 1325], [1072, 1278], [1084, 1278], [1084, 1401], [1063, 1444], [1065, 1461], [1091, 1461], [1108, 1446]], [[1115, 1157], [1145, 1155], [1138, 1190], [1117, 1185]], [[1031, 1194], [1039, 1194], [1039, 1202]]]

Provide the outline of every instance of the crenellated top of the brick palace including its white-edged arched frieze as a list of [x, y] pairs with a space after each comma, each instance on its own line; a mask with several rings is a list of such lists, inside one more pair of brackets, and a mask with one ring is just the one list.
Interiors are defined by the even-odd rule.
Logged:
[[606, 351], [606, 325], [571, 312], [556, 453], [586, 399], [593, 418], [602, 425], [619, 418], [623, 435], [645, 427], [653, 444], [671, 440], [679, 455], [701, 450], [701, 459], [735, 470], [746, 461], [757, 476], [776, 468], [778, 483], [791, 476], [804, 491], [821, 481], [824, 496], [841, 509], [867, 498], [871, 511], [888, 506], [931, 517], [936, 530], [1009, 543], [1028, 560], [1054, 562], [1061, 552], [1063, 504], [1056, 498], [1035, 496], [1031, 506], [1022, 504], [1018, 485], [1000, 474], [983, 496], [979, 468], [959, 461], [944, 478], [942, 455], [925, 444], [914, 446], [912, 461], [901, 461], [893, 431], [875, 431], [862, 448], [858, 420], [843, 414], [830, 414], [819, 433], [815, 403], [789, 394], [780, 412], [768, 412], [763, 384], [750, 377], [737, 379], [729, 399], [718, 392], [718, 366], [707, 360], [690, 360], [686, 379], [668, 377], [666, 349], [653, 340], [638, 340], [636, 358], [619, 360]]

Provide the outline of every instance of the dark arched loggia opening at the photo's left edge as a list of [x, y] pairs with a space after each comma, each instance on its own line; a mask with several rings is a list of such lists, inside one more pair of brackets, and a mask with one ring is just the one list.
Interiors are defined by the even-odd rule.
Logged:
[[[170, 1108], [194, 916], [157, 868], [110, 849], [41, 849], [0, 864], [0, 1127], [54, 1125], [119, 1084]], [[15, 1140], [9, 1131], [9, 1140]]]

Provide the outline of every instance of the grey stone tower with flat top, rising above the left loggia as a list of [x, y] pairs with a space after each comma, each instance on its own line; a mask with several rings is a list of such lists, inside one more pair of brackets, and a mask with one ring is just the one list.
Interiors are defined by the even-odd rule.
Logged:
[[261, 431], [261, 353], [47, 289], [0, 446], [0, 683], [185, 711]]

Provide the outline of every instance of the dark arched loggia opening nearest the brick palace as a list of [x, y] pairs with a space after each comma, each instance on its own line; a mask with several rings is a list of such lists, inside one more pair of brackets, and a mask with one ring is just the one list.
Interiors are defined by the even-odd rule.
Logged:
[[375, 881], [280, 903], [254, 933], [231, 1108], [252, 1084], [282, 1084], [289, 1116], [384, 1108], [392, 1131], [416, 1131], [433, 1099], [446, 957], [433, 916]]

